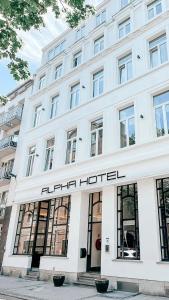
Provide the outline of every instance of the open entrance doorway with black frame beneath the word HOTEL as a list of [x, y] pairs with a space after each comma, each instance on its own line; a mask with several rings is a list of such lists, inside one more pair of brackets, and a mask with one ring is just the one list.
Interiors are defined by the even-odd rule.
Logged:
[[89, 195], [87, 271], [100, 272], [101, 268], [102, 193]]

